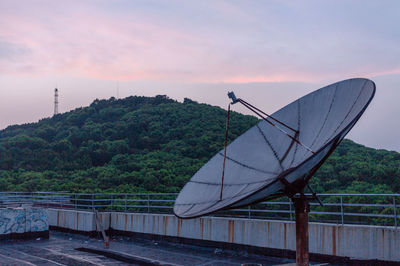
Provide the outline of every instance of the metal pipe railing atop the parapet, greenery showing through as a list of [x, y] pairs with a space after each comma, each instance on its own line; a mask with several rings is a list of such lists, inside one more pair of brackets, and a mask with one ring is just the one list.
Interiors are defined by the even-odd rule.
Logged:
[[[67, 193], [0, 192], [0, 207], [21, 206], [76, 210], [172, 213], [176, 193]], [[310, 202], [310, 221], [337, 224], [399, 226], [400, 194], [318, 194], [323, 202]], [[250, 219], [294, 220], [288, 198], [261, 202], [249, 207], [220, 211], [213, 216]]]

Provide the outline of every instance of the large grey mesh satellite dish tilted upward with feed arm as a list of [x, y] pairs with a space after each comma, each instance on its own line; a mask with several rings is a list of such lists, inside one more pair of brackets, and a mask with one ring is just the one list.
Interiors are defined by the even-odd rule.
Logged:
[[263, 120], [197, 171], [179, 193], [175, 215], [195, 218], [302, 192], [364, 113], [374, 94], [371, 80], [344, 80], [266, 117], [231, 93], [232, 104], [241, 102], [262, 113]]

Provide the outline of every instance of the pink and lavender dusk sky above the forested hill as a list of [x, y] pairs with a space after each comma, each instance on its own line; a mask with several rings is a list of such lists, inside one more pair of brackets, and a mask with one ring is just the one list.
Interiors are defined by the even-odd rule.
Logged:
[[[273, 113], [330, 83], [372, 79], [348, 138], [400, 151], [399, 1], [0, 0], [0, 129], [96, 98], [168, 95]], [[234, 106], [234, 110], [246, 110]]]

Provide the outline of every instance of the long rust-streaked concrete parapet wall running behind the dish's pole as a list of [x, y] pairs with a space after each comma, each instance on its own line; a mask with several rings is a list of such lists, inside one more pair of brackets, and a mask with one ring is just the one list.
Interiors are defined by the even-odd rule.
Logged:
[[[118, 231], [296, 250], [294, 222], [173, 215], [111, 213]], [[361, 260], [400, 261], [400, 229], [379, 226], [309, 224], [310, 252]]]

